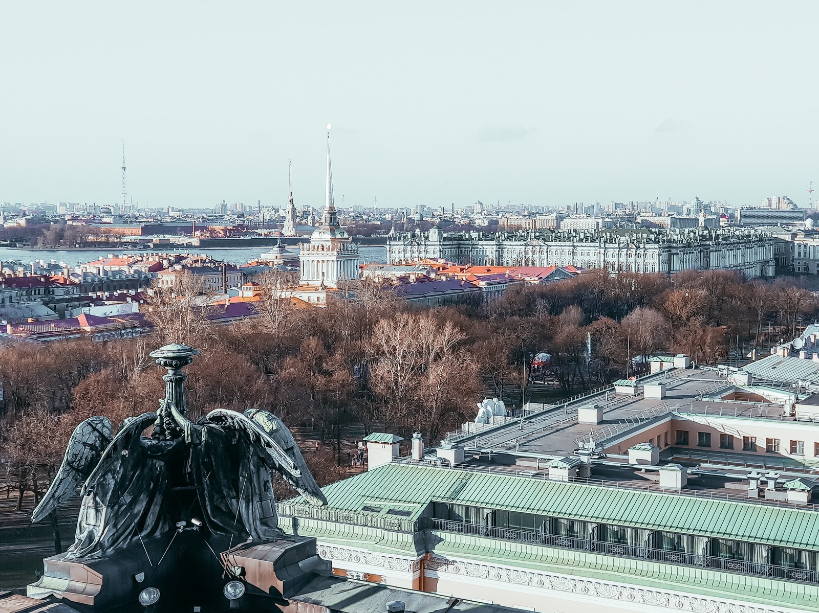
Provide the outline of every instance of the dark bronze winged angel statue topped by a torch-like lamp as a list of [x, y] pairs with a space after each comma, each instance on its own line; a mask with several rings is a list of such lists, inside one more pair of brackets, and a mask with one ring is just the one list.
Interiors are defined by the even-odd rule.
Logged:
[[[218, 409], [188, 420], [182, 368], [199, 352], [166, 345], [152, 352], [167, 368], [156, 413], [125, 420], [113, 433], [90, 417], [71, 435], [60, 470], [34, 509], [42, 521], [78, 488], [82, 503], [66, 559], [104, 557], [173, 533], [197, 518], [202, 530], [236, 539], [278, 538], [274, 473], [316, 506], [327, 503], [287, 426], [272, 413]], [[143, 435], [153, 426], [150, 436]], [[239, 542], [237, 540], [236, 542]]]

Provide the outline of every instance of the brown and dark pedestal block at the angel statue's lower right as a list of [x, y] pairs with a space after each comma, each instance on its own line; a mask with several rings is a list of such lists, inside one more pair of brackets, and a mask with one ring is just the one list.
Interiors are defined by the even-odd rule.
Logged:
[[284, 535], [272, 543], [244, 543], [222, 553], [229, 568], [262, 593], [291, 597], [315, 574], [331, 575], [330, 562], [316, 555], [315, 539]]

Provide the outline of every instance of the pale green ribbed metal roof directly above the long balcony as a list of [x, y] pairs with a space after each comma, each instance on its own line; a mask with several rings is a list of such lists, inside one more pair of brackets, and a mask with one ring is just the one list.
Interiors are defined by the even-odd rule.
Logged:
[[[392, 462], [322, 489], [331, 509], [433, 500], [819, 550], [819, 513], [681, 494]], [[295, 503], [303, 503], [296, 498]], [[407, 518], [412, 519], [412, 518]]]

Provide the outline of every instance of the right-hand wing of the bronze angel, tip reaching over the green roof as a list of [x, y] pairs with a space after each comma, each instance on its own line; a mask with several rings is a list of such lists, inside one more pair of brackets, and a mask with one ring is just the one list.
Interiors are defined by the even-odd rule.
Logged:
[[[274, 438], [268, 434], [265, 427], [258, 421], [235, 411], [216, 409], [208, 413], [207, 419], [218, 426], [229, 427], [244, 432], [250, 438], [252, 444], [259, 444], [269, 457], [272, 458], [278, 471], [284, 479], [287, 480], [287, 483], [298, 489], [302, 494], [305, 494], [305, 497], [309, 498], [311, 503], [317, 506], [327, 503], [324, 499], [324, 495], [321, 494], [319, 486], [315, 485], [315, 480], [313, 476], [310, 475], [310, 471], [307, 469], [307, 465], [304, 462], [304, 458], [301, 457], [301, 453], [298, 453], [298, 458], [301, 459], [301, 465], [298, 465], [296, 464], [296, 459], [292, 451], [287, 453], [282, 445], [279, 444], [279, 441], [283, 441], [285, 448], [287, 448], [286, 438], [282, 439], [278, 435]], [[281, 423], [281, 421], [279, 421], [279, 423]], [[293, 441], [290, 431], [287, 430], [284, 424], [282, 424], [281, 427], [284, 431], [287, 431], [287, 436], [292, 446], [295, 447], [296, 442]], [[278, 431], [281, 432], [282, 430]], [[308, 480], [305, 480], [305, 475]], [[316, 496], [314, 492], [318, 492], [319, 495]]]

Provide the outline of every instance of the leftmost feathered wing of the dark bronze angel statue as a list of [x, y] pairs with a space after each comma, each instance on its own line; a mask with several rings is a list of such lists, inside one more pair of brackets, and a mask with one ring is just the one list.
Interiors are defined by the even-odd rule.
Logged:
[[31, 514], [32, 523], [43, 521], [59, 504], [76, 494], [111, 443], [111, 432], [111, 420], [98, 416], [89, 417], [74, 429], [57, 476]]

